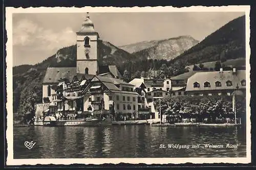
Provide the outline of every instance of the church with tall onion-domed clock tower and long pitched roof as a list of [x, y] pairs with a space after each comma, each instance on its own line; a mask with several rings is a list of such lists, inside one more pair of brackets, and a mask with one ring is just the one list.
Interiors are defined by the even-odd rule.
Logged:
[[58, 101], [56, 92], [59, 91], [57, 89], [59, 89], [61, 83], [62, 86], [65, 85], [63, 87], [64, 89], [68, 88], [68, 91], [72, 92], [82, 88], [81, 86], [84, 86], [85, 82], [89, 82], [95, 75], [122, 79], [115, 65], [100, 66], [98, 50], [99, 34], [95, 31], [89, 14], [82, 22], [82, 27], [76, 35], [76, 67], [49, 66], [47, 68], [42, 82], [43, 103]]

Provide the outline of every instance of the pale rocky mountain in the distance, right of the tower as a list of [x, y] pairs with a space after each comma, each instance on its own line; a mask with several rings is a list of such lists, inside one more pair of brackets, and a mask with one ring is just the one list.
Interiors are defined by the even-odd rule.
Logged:
[[134, 54], [140, 59], [171, 60], [196, 45], [198, 40], [191, 36], [179, 36], [164, 40], [143, 41], [119, 48]]

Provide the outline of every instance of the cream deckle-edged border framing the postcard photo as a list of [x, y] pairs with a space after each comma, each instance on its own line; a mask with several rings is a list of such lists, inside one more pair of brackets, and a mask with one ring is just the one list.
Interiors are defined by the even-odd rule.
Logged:
[[[250, 46], [249, 46], [249, 40], [250, 40], [250, 20], [249, 20], [249, 13], [250, 13], [250, 7], [248, 6], [239, 6], [240, 10], [243, 9], [244, 11], [240, 10], [234, 10], [233, 8], [238, 6], [222, 6], [222, 7], [182, 7], [182, 8], [174, 8], [174, 7], [133, 7], [133, 8], [115, 8], [115, 11], [112, 11], [114, 7], [84, 7], [84, 8], [66, 8], [66, 7], [54, 7], [54, 8], [48, 8], [48, 7], [39, 7], [39, 8], [12, 8], [8, 7], [6, 8], [6, 30], [7, 30], [7, 43], [6, 43], [6, 51], [7, 51], [7, 57], [6, 57], [6, 81], [7, 85], [7, 103], [6, 108], [7, 112], [12, 112], [12, 17], [9, 15], [12, 13], [42, 13], [45, 9], [47, 9], [47, 13], [51, 12], [60, 12], [60, 13], [69, 13], [74, 12], [72, 10], [75, 10], [75, 12], [99, 12], [99, 10], [104, 10], [104, 12], [189, 12], [193, 8], [197, 8], [198, 10], [201, 10], [200, 12], [209, 12], [209, 11], [220, 11], [224, 10], [226, 12], [228, 11], [236, 11], [236, 12], [245, 12], [245, 18], [246, 18], [246, 155], [247, 157], [244, 158], [77, 158], [70, 160], [69, 158], [65, 159], [13, 159], [13, 115], [7, 114], [7, 131], [6, 131], [6, 138], [7, 138], [7, 145], [8, 145], [8, 155], [7, 155], [7, 165], [23, 165], [27, 164], [26, 162], [29, 162], [29, 165], [36, 165], [41, 164], [44, 162], [44, 164], [73, 164], [73, 163], [81, 163], [86, 164], [86, 162], [90, 162], [90, 164], [99, 165], [102, 163], [146, 163], [146, 164], [152, 164], [152, 162], [157, 164], [167, 164], [167, 163], [174, 163], [174, 164], [180, 164], [180, 163], [250, 163], [251, 162], [251, 122], [250, 122]], [[243, 8], [242, 8], [243, 7]], [[229, 9], [227, 9], [229, 8]], [[63, 10], [66, 10], [63, 12]], [[152, 11], [151, 11], [152, 10]], [[170, 11], [172, 10], [172, 11]], [[191, 11], [190, 11], [191, 12]], [[8, 57], [11, 56], [11, 57]], [[249, 81], [248, 81], [249, 80]], [[249, 114], [248, 114], [249, 113]], [[248, 127], [249, 126], [249, 127]], [[249, 135], [248, 135], [249, 134]], [[249, 138], [248, 138], [249, 137]], [[82, 160], [81, 160], [82, 159]], [[94, 161], [94, 159], [96, 159]], [[136, 160], [134, 160], [136, 159]], [[180, 161], [182, 159], [182, 161]], [[196, 160], [197, 159], [197, 160]], [[214, 162], [211, 161], [211, 159], [214, 159]], [[225, 159], [225, 160], [224, 160]], [[53, 161], [52, 161], [53, 160]], [[102, 162], [101, 162], [102, 161]], [[63, 163], [64, 162], [64, 163]]]

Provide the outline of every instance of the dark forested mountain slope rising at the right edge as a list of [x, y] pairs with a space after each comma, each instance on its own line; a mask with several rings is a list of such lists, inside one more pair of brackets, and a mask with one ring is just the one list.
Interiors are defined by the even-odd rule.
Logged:
[[174, 62], [197, 63], [245, 58], [245, 16], [233, 19], [175, 58]]

